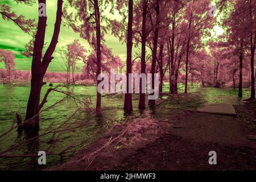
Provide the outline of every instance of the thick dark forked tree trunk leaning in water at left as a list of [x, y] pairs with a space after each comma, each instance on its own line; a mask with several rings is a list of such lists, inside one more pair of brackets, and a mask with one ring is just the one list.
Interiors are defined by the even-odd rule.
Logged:
[[[46, 3], [46, 0], [39, 0], [38, 3]], [[47, 17], [41, 16], [38, 20], [38, 30], [35, 35], [32, 66], [31, 66], [31, 90], [30, 97], [27, 103], [26, 118], [23, 127], [27, 130], [39, 130], [39, 111], [40, 111], [40, 93], [42, 86], [46, 84], [43, 82], [43, 77], [46, 74], [49, 63], [53, 59], [54, 52], [59, 38], [61, 16], [62, 16], [63, 1], [57, 1], [57, 13], [54, 32], [51, 43], [44, 54], [42, 60], [42, 50], [44, 46], [44, 38], [46, 33]], [[41, 61], [42, 60], [42, 61]]]

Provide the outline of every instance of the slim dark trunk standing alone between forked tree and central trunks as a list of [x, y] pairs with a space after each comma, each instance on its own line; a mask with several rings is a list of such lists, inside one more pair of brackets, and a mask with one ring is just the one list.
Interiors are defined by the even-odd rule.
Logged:
[[[97, 38], [97, 71], [96, 76], [101, 74], [101, 24], [100, 24], [100, 9], [98, 1], [94, 0], [94, 11], [96, 16], [96, 38]], [[101, 80], [97, 79], [97, 87]], [[101, 110], [101, 93], [97, 92], [96, 111]]]

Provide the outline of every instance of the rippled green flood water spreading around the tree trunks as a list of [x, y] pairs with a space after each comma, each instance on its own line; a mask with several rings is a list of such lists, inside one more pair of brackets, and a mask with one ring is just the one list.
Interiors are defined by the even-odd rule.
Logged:
[[[42, 98], [46, 93], [49, 86], [45, 85], [42, 88]], [[65, 88], [64, 88], [65, 90]], [[82, 97], [90, 97], [94, 102], [96, 100], [96, 86], [70, 86], [69, 90]], [[163, 91], [168, 91], [168, 84], [164, 85]], [[243, 90], [245, 97], [249, 96], [247, 89]], [[14, 124], [15, 113], [26, 113], [26, 104], [28, 100], [28, 94], [30, 92], [30, 86], [24, 85], [0, 85], [0, 135], [9, 130]], [[182, 90], [181, 90], [182, 92]], [[180, 103], [176, 101], [167, 101], [155, 109], [146, 109], [151, 113], [151, 117], [154, 118], [166, 118], [177, 112], [180, 109], [196, 109], [210, 103], [230, 103], [240, 104], [241, 101], [237, 100], [237, 90], [233, 89], [217, 89], [217, 88], [200, 88], [195, 87], [190, 90], [191, 93], [186, 94], [184, 97], [180, 95]], [[61, 100], [64, 97], [63, 93], [51, 92], [48, 96], [48, 102], [43, 108], [53, 105], [56, 101]], [[85, 147], [94, 140], [102, 137], [112, 127], [118, 123], [130, 122], [134, 118], [143, 117], [143, 113], [138, 110], [138, 94], [133, 95], [133, 114], [127, 114], [123, 111], [123, 96], [119, 97], [102, 97], [102, 113], [100, 115], [90, 113], [78, 113], [71, 119], [73, 124], [81, 123], [81, 127], [67, 131], [58, 138], [57, 143], [52, 147], [51, 139], [52, 134], [43, 135], [36, 142], [24, 144], [19, 148], [15, 148], [13, 151], [6, 154], [24, 155], [24, 154], [37, 154], [40, 150], [47, 150], [50, 152], [60, 152], [64, 148], [71, 146], [73, 143], [82, 143], [81, 146], [74, 148], [79, 150]], [[159, 98], [160, 101], [160, 98]], [[67, 118], [76, 111], [76, 104], [72, 99], [65, 100], [60, 105], [49, 109], [40, 114], [40, 131], [39, 134], [43, 134], [48, 129], [49, 125], [59, 126]], [[71, 122], [71, 123], [72, 123]], [[10, 134], [0, 138], [0, 154], [7, 148], [15, 146], [24, 140], [27, 136], [18, 133], [16, 130], [11, 131]], [[52, 148], [51, 148], [52, 147]], [[32, 148], [32, 150], [31, 150]], [[31, 158], [0, 158], [0, 169], [43, 169], [55, 166], [68, 160], [72, 155], [65, 156], [47, 156], [47, 165], [39, 166], [35, 157]]]

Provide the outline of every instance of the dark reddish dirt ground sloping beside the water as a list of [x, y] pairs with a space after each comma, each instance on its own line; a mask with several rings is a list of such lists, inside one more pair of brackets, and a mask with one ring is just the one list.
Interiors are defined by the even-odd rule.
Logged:
[[[159, 121], [146, 114], [126, 126], [115, 126], [108, 136], [55, 169], [255, 170], [256, 141], [246, 136], [256, 134], [250, 127], [256, 123], [243, 123], [241, 108], [254, 115], [251, 106], [237, 107], [237, 117], [183, 110]], [[115, 140], [99, 150], [110, 138]], [[217, 152], [217, 165], [209, 165], [209, 151]]]

